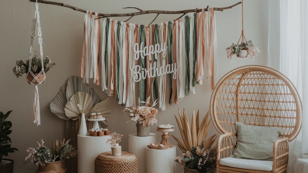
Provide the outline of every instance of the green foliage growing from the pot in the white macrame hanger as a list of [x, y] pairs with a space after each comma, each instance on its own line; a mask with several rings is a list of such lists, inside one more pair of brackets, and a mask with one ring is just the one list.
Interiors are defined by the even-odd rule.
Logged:
[[[43, 59], [44, 71], [47, 73], [56, 63], [51, 63], [51, 60], [48, 58]], [[24, 63], [22, 60], [16, 60], [16, 65], [13, 68], [13, 73], [17, 77], [21, 77], [22, 74], [27, 73], [29, 70], [33, 72], [33, 74], [39, 73], [42, 70], [41, 59], [38, 57], [38, 51], [34, 51], [34, 57], [31, 60], [31, 64], [29, 65], [29, 60], [26, 60]]]

